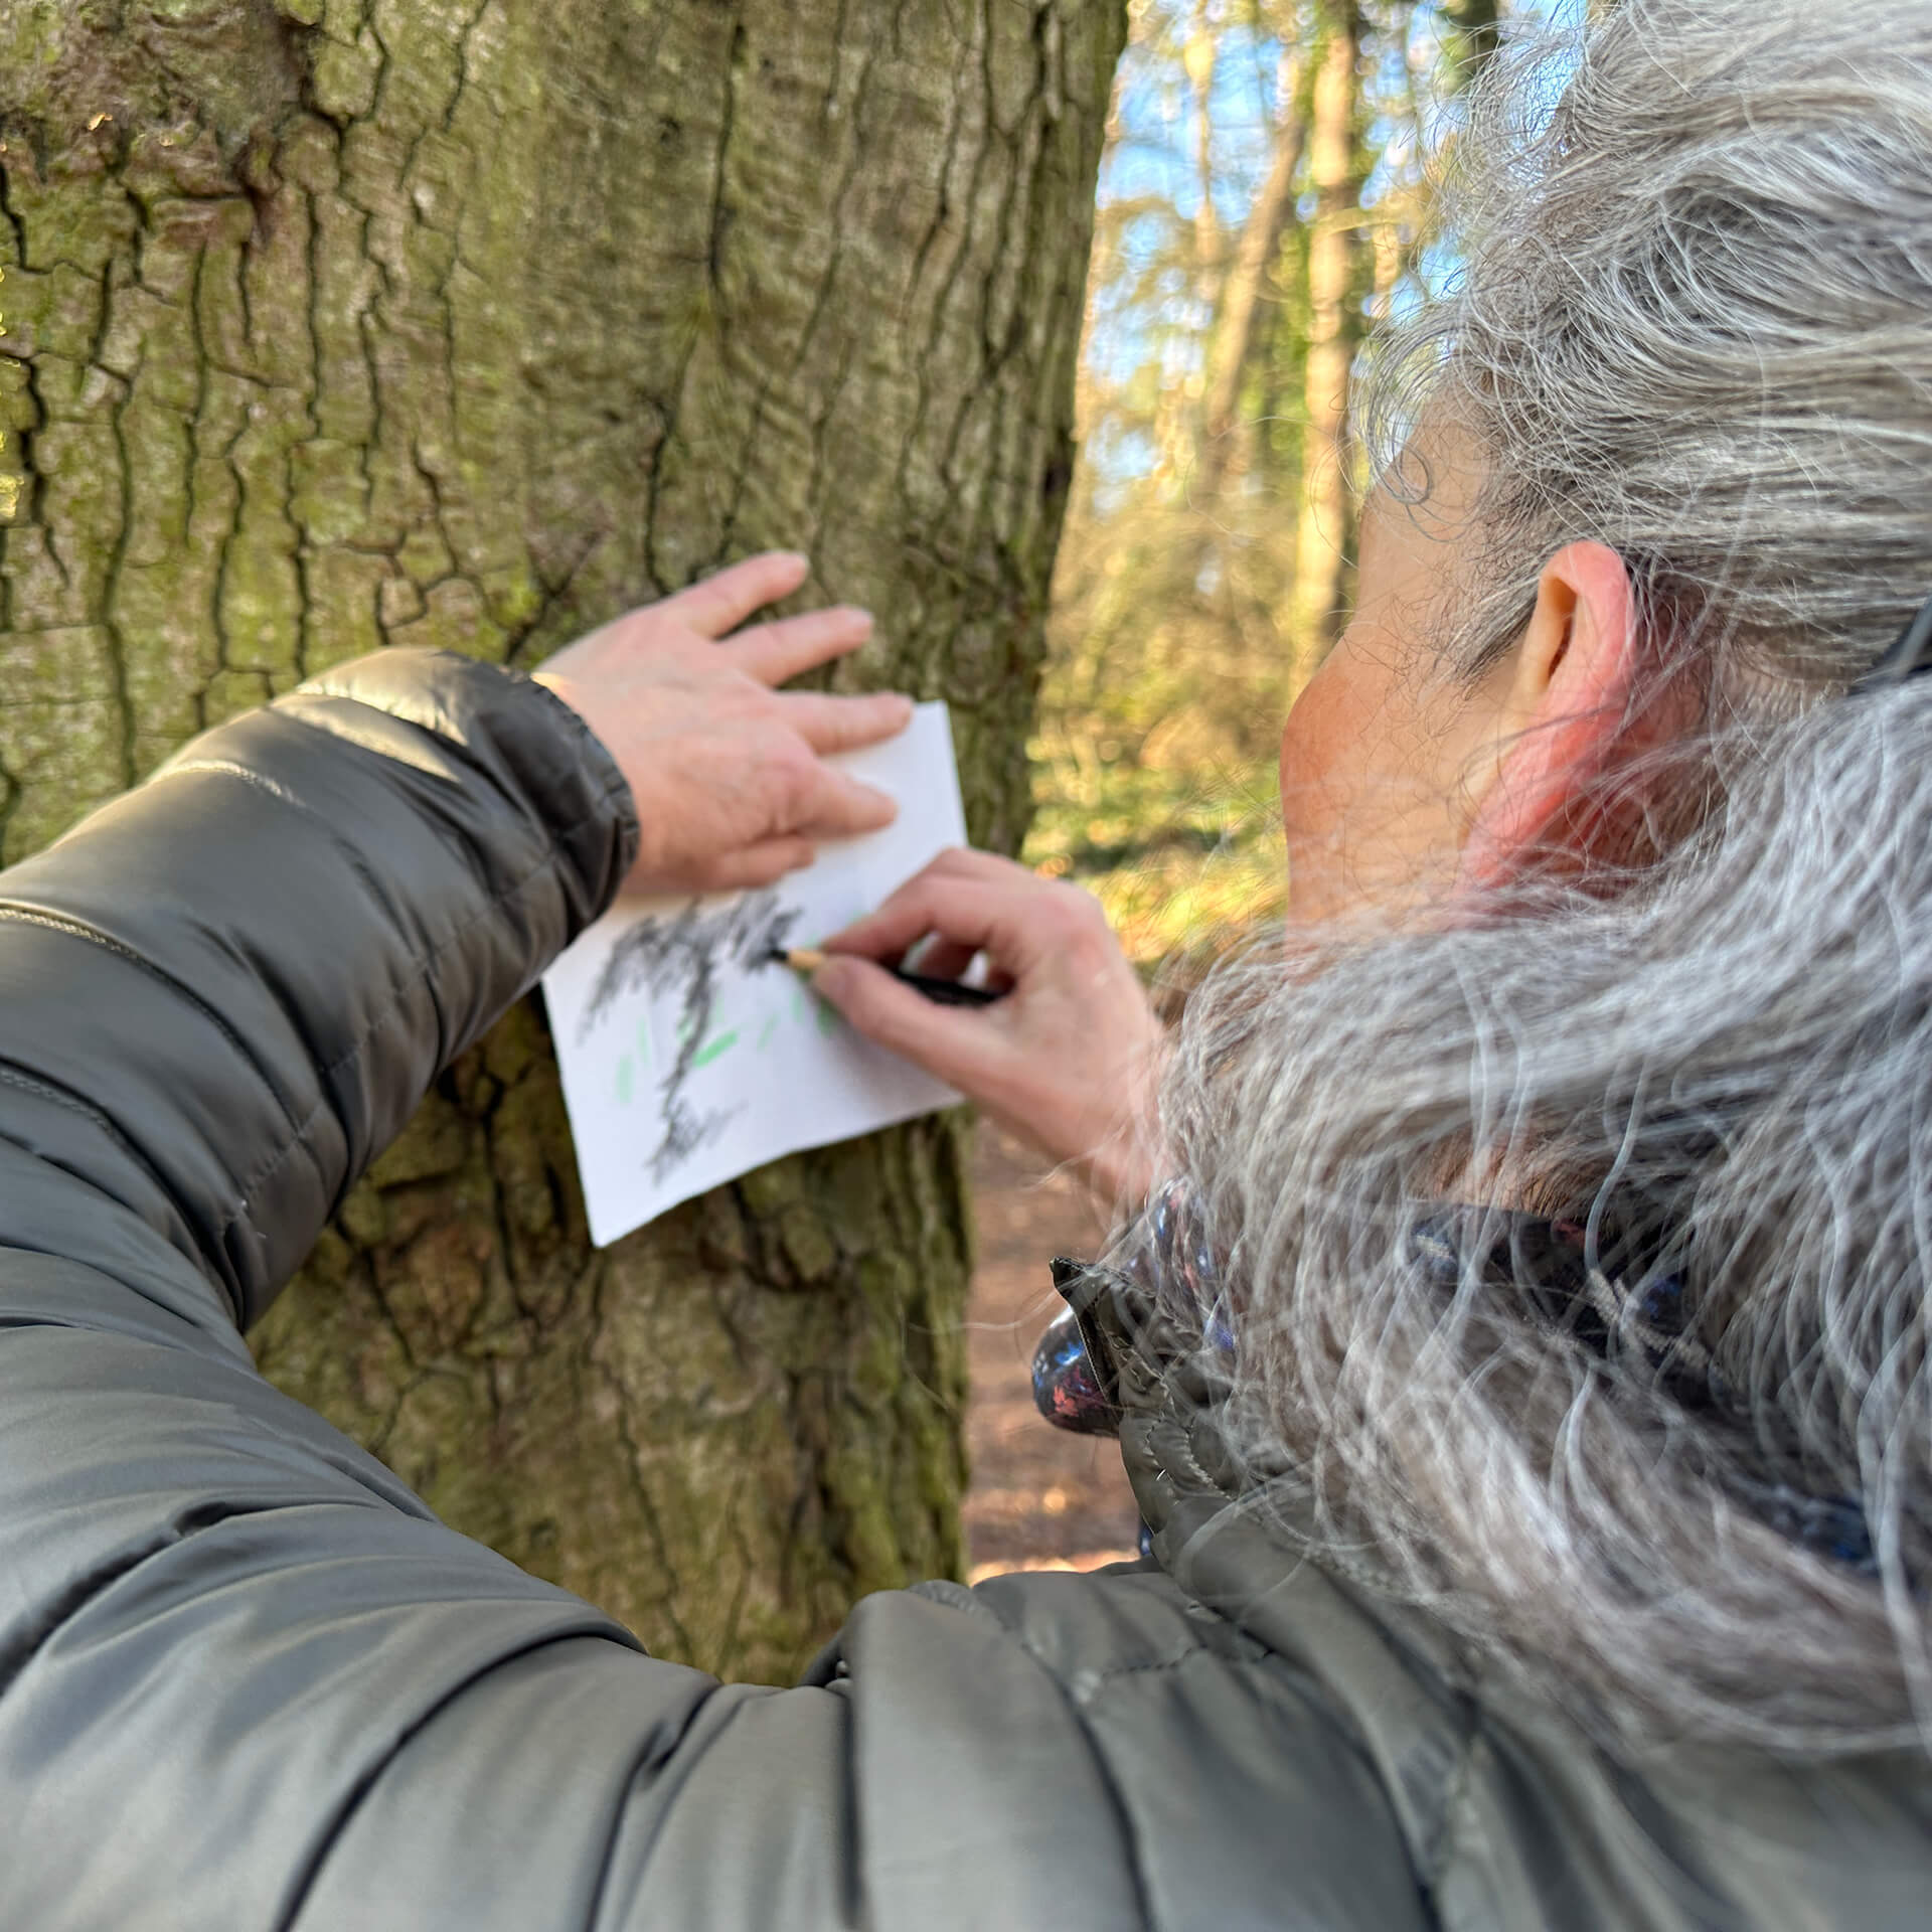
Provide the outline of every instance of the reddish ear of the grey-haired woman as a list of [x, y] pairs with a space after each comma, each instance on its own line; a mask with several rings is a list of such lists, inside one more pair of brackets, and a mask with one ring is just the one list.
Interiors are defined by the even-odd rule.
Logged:
[[1463, 840], [1457, 885], [1509, 879], [1534, 850], [1588, 837], [1577, 811], [1611, 761], [1636, 678], [1636, 601], [1605, 543], [1567, 543], [1544, 564], [1517, 639], [1499, 759]]

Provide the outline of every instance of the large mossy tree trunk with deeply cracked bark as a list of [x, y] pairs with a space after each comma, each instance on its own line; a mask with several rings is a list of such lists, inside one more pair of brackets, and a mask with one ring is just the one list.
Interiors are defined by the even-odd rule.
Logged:
[[[533, 665], [767, 545], [1018, 844], [1121, 0], [0, 0], [8, 860], [379, 645]], [[790, 1099], [790, 1097], [788, 1097]], [[255, 1337], [657, 1652], [960, 1567], [964, 1134], [593, 1254], [535, 1007]]]

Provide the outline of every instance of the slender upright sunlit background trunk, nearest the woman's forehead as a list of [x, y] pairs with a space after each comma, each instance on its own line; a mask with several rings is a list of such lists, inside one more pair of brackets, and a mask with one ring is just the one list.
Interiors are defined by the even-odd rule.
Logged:
[[1350, 255], [1354, 232], [1354, 108], [1360, 27], [1350, 4], [1337, 6], [1316, 56], [1314, 108], [1308, 122], [1308, 184], [1316, 218], [1308, 232], [1308, 359], [1304, 371], [1302, 502], [1294, 533], [1294, 641], [1300, 665], [1314, 668], [1335, 641], [1341, 614], [1347, 537], [1343, 419], [1349, 406]]

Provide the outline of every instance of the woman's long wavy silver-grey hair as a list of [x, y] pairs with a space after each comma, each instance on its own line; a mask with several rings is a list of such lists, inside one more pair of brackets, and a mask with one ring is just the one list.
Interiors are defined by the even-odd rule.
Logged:
[[[1424, 415], [1482, 458], [1428, 674], [1609, 543], [1698, 810], [1615, 893], [1225, 968], [1163, 1099], [1285, 1520], [1627, 1745], [1932, 1739], [1932, 682], [1837, 696], [1932, 593], [1928, 155], [1922, 0], [1623, 0], [1497, 60], [1459, 280], [1362, 404], [1397, 498]], [[1517, 1209], [1638, 1256], [1594, 1327], [1480, 1260]]]

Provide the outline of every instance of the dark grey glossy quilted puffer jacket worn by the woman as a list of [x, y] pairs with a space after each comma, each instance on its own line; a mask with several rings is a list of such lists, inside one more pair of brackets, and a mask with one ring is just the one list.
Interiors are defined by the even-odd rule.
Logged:
[[1853, 1926], [1918, 1760], [1605, 1764], [1233, 1493], [1130, 1362], [1157, 1563], [860, 1604], [784, 1690], [440, 1526], [238, 1337], [607, 902], [601, 748], [334, 672], [0, 877], [0, 1928]]

